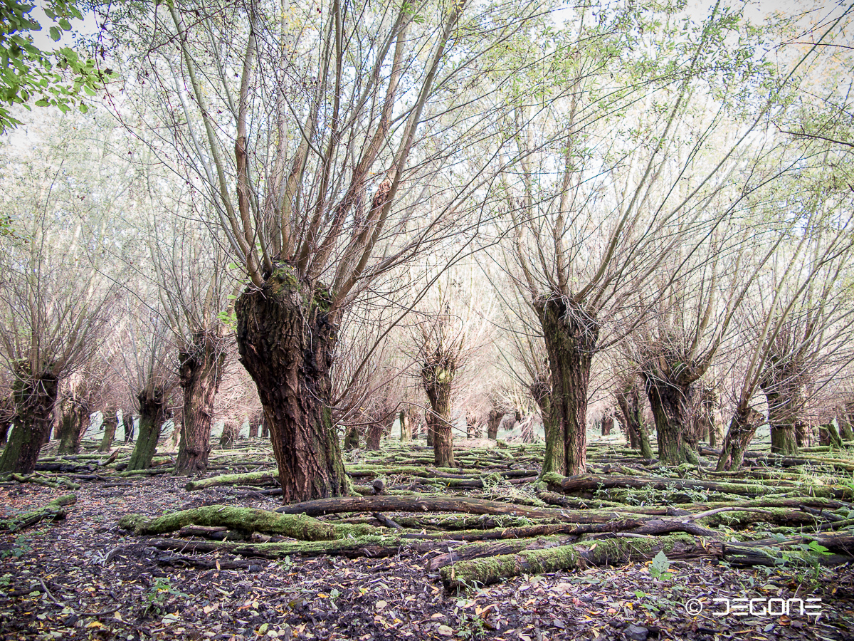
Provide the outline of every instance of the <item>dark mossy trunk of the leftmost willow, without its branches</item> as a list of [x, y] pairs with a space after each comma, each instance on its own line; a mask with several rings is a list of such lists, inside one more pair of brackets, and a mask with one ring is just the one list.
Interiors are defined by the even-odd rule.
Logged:
[[50, 435], [59, 381], [52, 373], [16, 376], [12, 386], [15, 417], [9, 443], [0, 456], [0, 473], [32, 474], [38, 452]]

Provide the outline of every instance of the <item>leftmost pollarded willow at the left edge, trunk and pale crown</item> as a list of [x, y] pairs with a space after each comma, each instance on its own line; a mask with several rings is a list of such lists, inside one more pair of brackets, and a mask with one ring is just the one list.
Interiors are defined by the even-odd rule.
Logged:
[[0, 356], [15, 413], [0, 472], [32, 473], [61, 380], [98, 349], [114, 296], [101, 247], [127, 179], [123, 167], [102, 163], [114, 132], [96, 134], [88, 120], [32, 126], [26, 161], [19, 133], [4, 145], [0, 181], [12, 230], [0, 252]]

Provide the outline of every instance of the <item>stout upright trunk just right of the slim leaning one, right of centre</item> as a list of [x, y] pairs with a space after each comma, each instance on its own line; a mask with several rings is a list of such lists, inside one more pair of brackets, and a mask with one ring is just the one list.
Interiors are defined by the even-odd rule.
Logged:
[[677, 385], [656, 374], [643, 376], [658, 434], [659, 460], [670, 465], [688, 462], [692, 456], [685, 435], [691, 422], [691, 385]]

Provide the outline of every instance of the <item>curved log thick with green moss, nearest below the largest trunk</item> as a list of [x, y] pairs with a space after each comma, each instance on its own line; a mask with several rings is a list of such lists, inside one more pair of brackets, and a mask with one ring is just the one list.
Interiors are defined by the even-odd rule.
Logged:
[[236, 508], [231, 505], [207, 505], [184, 509], [173, 514], [146, 519], [142, 515], [126, 515], [119, 526], [136, 534], [164, 534], [185, 526], [223, 526], [251, 534], [264, 532], [298, 538], [301, 541], [331, 541], [336, 538], [360, 537], [383, 532], [382, 528], [366, 525], [330, 525], [310, 516], [279, 515], [264, 509]]

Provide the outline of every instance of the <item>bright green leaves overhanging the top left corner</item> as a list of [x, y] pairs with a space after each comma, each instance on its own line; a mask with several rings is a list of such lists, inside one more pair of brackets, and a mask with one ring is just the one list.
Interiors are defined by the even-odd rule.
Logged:
[[[38, 107], [55, 106], [67, 112], [76, 106], [89, 110], [85, 97], [94, 96], [112, 72], [101, 72], [91, 59], [81, 59], [70, 47], [54, 52], [38, 49], [30, 32], [42, 26], [32, 18], [34, 3], [27, 0], [2, 0], [0, 9], [0, 128], [3, 131], [20, 124], [9, 113], [9, 106], [27, 103]], [[55, 24], [49, 27], [55, 42], [61, 32], [72, 30], [69, 19], [82, 20], [79, 9], [68, 0], [49, 0], [44, 13]]]

